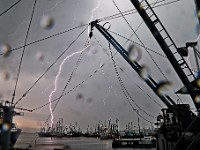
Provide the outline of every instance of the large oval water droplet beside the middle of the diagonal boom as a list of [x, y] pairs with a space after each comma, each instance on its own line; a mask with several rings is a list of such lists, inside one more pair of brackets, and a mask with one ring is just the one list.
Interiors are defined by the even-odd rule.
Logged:
[[141, 49], [137, 45], [131, 44], [127, 51], [131, 61], [139, 61], [142, 57]]

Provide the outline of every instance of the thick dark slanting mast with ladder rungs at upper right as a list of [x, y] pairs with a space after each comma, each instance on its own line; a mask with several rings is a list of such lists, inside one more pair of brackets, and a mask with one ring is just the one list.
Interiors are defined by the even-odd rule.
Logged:
[[[195, 80], [195, 77], [191, 69], [189, 68], [188, 64], [185, 62], [184, 58], [179, 54], [178, 49], [175, 43], [173, 42], [172, 38], [169, 36], [168, 32], [164, 28], [163, 24], [161, 23], [161, 21], [159, 20], [159, 18], [157, 17], [157, 15], [153, 11], [147, 0], [142, 0], [141, 2], [139, 2], [138, 0], [130, 0], [130, 1], [135, 6], [138, 13], [144, 20], [145, 24], [153, 34], [154, 38], [162, 48], [163, 52], [167, 56], [171, 65], [173, 66], [174, 70], [179, 76], [180, 80], [187, 88], [188, 93], [190, 94], [198, 110], [200, 108], [200, 103], [198, 101], [199, 94], [190, 83], [191, 81]], [[146, 10], [144, 9], [143, 7], [144, 5], [148, 6], [148, 9], [150, 10], [151, 13], [147, 14], [146, 12], [147, 9]], [[189, 77], [191, 81], [189, 81]]]

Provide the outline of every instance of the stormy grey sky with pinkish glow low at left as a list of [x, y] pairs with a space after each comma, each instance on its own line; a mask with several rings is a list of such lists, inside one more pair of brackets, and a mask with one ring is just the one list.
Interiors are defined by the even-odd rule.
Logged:
[[[149, 0], [150, 3], [156, 1], [156, 5], [162, 5], [173, 0]], [[18, 1], [1, 0], [0, 13], [15, 2]], [[115, 0], [115, 2], [121, 11], [134, 9], [129, 0]], [[93, 11], [98, 5], [99, 8]], [[0, 16], [1, 54], [5, 52], [5, 49], [3, 49], [5, 45], [10, 49], [24, 45], [33, 6], [34, 0], [21, 0]], [[194, 41], [197, 38], [198, 21], [193, 1], [180, 0], [156, 7], [154, 10], [178, 47], [182, 47], [187, 41]], [[119, 13], [112, 0], [37, 0], [26, 43], [32, 43], [68, 29], [88, 24], [93, 13], [92, 20], [103, 18], [99, 24], [103, 25], [108, 22], [110, 31], [126, 38], [129, 38], [133, 33], [122, 17], [109, 17]], [[138, 13], [129, 14], [126, 19], [134, 30], [142, 22]], [[108, 23], [105, 27], [109, 26]], [[30, 89], [34, 82], [86, 27], [79, 27], [25, 47], [14, 102], [17, 102]], [[112, 35], [125, 49], [128, 49], [131, 45], [131, 42], [126, 42], [126, 39], [115, 34]], [[138, 49], [136, 52], [139, 52], [136, 57], [141, 55], [141, 58], [137, 59], [138, 63], [146, 66], [147, 72], [157, 82], [165, 80], [162, 75], [164, 73], [171, 83], [170, 88], [168, 87], [164, 92], [177, 102], [178, 97], [174, 94], [174, 91], [183, 86], [180, 79], [169, 61], [163, 56], [164, 53], [144, 23], [137, 30], [137, 35], [146, 47], [162, 55], [149, 51], [150, 56], [146, 49], [135, 44], [134, 46]], [[26, 96], [17, 104], [17, 107], [34, 109], [48, 103], [49, 94], [54, 89], [54, 80], [63, 59], [74, 52], [83, 50], [87, 39], [88, 30], [86, 29], [80, 38], [58, 59], [55, 65], [27, 92]], [[141, 44], [136, 36], [133, 36], [131, 40]], [[71, 79], [65, 93], [70, 92], [60, 99], [53, 113], [54, 121], [58, 121], [58, 118], [64, 118], [65, 124], [78, 122], [83, 130], [88, 125], [95, 125], [99, 120], [104, 122], [111, 119], [114, 122], [116, 118], [120, 120], [121, 128], [124, 128], [125, 124], [130, 121], [137, 124], [138, 116], [126, 99], [117, 79], [108, 42], [97, 29], [94, 29], [94, 37], [90, 43], [91, 45], [82, 55], [77, 53], [67, 59], [62, 66], [57, 82], [57, 91], [53, 94], [52, 100], [60, 96], [69, 78]], [[114, 54], [116, 50], [112, 46], [110, 47]], [[23, 48], [20, 48], [0, 56], [0, 99], [2, 100], [11, 101], [12, 99], [22, 52]], [[193, 52], [191, 51], [189, 54], [186, 59], [191, 68], [196, 70]], [[162, 73], [151, 58], [158, 64]], [[166, 106], [119, 54], [115, 55], [114, 60], [123, 84], [130, 93], [132, 100], [141, 108], [139, 113], [145, 119], [155, 122], [156, 119], [147, 114], [156, 117], [160, 113], [161, 107]], [[79, 62], [78, 65], [77, 61]], [[104, 66], [100, 68], [103, 64]], [[73, 75], [71, 75], [72, 72]], [[82, 83], [83, 81], [84, 83]], [[194, 108], [189, 96], [180, 96], [180, 98], [183, 103], [189, 103], [191, 108]], [[138, 109], [134, 102], [131, 101], [131, 104], [135, 109]], [[54, 105], [55, 102], [52, 107]], [[25, 112], [23, 117], [16, 116], [14, 121], [25, 130], [28, 128], [36, 129], [40, 128], [49, 114], [49, 105], [47, 105], [31, 113]], [[142, 118], [140, 124], [142, 127], [151, 125]]]

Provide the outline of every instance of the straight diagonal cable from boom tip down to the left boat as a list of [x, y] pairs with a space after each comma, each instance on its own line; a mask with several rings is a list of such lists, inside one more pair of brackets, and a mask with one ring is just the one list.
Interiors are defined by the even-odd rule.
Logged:
[[88, 26], [68, 45], [68, 47], [54, 60], [54, 62], [46, 69], [46, 71], [33, 83], [33, 85], [22, 95], [22, 97], [15, 103], [17, 105], [27, 93], [37, 84], [38, 81], [51, 69], [53, 65], [65, 54], [65, 52], [79, 39], [79, 37], [87, 30]]

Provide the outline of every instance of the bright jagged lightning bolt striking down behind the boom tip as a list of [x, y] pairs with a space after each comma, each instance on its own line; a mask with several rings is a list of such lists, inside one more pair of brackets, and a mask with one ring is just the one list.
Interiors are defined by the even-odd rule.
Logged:
[[[93, 20], [94, 14], [95, 14], [96, 10], [97, 10], [97, 9], [100, 7], [100, 5], [101, 5], [101, 1], [102, 1], [102, 0], [99, 0], [97, 6], [96, 6], [94, 9], [92, 9], [92, 14], [91, 14], [89, 23]], [[90, 33], [90, 28], [88, 27], [88, 35], [89, 35], [89, 33]], [[78, 52], [74, 52], [74, 53], [72, 53], [71, 55], [66, 56], [65, 59], [62, 61], [62, 63], [61, 63], [60, 66], [59, 66], [58, 74], [56, 75], [56, 78], [55, 78], [55, 80], [54, 80], [54, 89], [52, 90], [52, 92], [51, 92], [50, 95], [49, 95], [49, 110], [50, 110], [50, 114], [51, 114], [51, 127], [53, 126], [53, 119], [54, 119], [51, 101], [52, 101], [52, 96], [53, 96], [53, 94], [54, 94], [54, 93], [56, 92], [56, 90], [57, 90], [57, 82], [58, 82], [58, 78], [59, 78], [59, 76], [60, 76], [60, 74], [61, 74], [61, 72], [62, 72], [62, 66], [63, 66], [63, 64], [65, 63], [65, 61], [66, 61], [67, 59], [73, 57], [73, 56], [76, 55], [76, 54], [82, 53], [82, 52], [85, 51], [88, 47], [90, 47], [90, 45], [91, 45], [91, 42], [90, 42], [90, 40], [89, 40], [88, 45], [87, 45], [83, 50], [78, 51]]]

